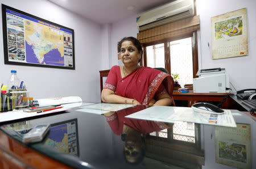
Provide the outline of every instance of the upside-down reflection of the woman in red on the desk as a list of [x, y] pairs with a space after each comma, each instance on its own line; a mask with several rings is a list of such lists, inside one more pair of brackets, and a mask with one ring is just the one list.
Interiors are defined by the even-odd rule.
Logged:
[[117, 113], [104, 114], [113, 133], [121, 135], [122, 140], [125, 141], [123, 153], [128, 163], [140, 163], [146, 154], [146, 145], [144, 137], [141, 136], [142, 134], [170, 128], [164, 122], [136, 120], [125, 117], [142, 109], [144, 109], [142, 105], [137, 105], [136, 107], [122, 109]]

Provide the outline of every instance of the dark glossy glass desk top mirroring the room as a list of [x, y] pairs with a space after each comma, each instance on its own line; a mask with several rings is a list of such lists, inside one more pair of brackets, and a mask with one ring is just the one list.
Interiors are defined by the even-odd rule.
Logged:
[[237, 128], [126, 118], [137, 105], [104, 115], [78, 111], [0, 124], [22, 143], [32, 127], [49, 123], [42, 142], [26, 146], [74, 168], [255, 168], [256, 123], [232, 110]]

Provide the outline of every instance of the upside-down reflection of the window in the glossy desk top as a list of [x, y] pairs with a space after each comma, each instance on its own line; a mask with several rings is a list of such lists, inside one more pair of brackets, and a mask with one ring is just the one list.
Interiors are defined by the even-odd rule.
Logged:
[[167, 165], [181, 165], [181, 168], [202, 168], [204, 150], [201, 139], [204, 138], [201, 138], [200, 126], [192, 122], [177, 121], [167, 129], [167, 133], [166, 130], [150, 133], [145, 138], [146, 157], [161, 159]]

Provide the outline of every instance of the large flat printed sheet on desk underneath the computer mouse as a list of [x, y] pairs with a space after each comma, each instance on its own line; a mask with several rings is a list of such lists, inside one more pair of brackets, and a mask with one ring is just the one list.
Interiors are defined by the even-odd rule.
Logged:
[[222, 115], [209, 115], [206, 113], [193, 112], [193, 109], [189, 107], [153, 106], [126, 117], [172, 123], [175, 121], [187, 121], [199, 124], [237, 126], [230, 110], [225, 110]]

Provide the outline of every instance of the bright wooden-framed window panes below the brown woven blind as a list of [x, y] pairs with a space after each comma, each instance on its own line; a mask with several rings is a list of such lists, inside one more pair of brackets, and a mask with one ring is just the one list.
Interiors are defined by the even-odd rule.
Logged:
[[[170, 74], [179, 74], [179, 84], [192, 84], [198, 70], [196, 33], [180, 39], [144, 44], [144, 66], [164, 67]], [[195, 45], [194, 45], [195, 46]], [[146, 51], [145, 51], [146, 49]]]

